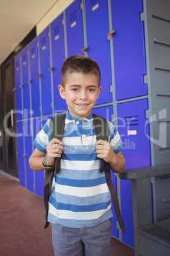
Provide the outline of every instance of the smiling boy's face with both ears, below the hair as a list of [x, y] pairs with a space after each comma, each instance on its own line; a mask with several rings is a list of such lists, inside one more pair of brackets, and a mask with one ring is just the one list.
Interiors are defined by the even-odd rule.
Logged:
[[101, 92], [95, 75], [71, 73], [67, 76], [65, 88], [58, 85], [60, 96], [66, 100], [69, 113], [75, 118], [85, 118], [91, 114], [96, 104], [96, 99]]

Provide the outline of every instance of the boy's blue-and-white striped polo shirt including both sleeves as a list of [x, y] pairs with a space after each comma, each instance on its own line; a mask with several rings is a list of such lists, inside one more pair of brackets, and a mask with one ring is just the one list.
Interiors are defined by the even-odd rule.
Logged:
[[[122, 150], [122, 141], [114, 124], [108, 122], [109, 142], [115, 153]], [[51, 140], [49, 120], [37, 134], [34, 145], [41, 152]], [[60, 171], [53, 178], [49, 197], [48, 222], [65, 227], [93, 227], [111, 218], [111, 196], [100, 173], [96, 157], [96, 135], [92, 114], [82, 119], [67, 112], [63, 132]]]

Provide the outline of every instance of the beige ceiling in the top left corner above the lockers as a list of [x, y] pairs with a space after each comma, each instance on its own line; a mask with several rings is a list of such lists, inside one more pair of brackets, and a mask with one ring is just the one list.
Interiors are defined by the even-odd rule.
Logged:
[[0, 65], [57, 0], [0, 0]]

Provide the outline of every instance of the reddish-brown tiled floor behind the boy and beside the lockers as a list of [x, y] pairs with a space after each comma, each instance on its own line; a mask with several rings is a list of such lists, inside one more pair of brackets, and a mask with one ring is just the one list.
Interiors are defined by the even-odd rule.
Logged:
[[[54, 255], [51, 227], [43, 227], [43, 199], [0, 171], [0, 255]], [[110, 255], [133, 256], [134, 250], [112, 238]]]

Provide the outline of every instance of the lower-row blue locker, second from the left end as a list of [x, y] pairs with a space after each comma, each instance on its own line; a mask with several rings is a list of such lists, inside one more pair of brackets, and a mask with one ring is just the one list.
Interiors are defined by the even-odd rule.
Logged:
[[30, 169], [29, 166], [29, 157], [32, 154], [32, 129], [30, 120], [25, 120], [23, 126], [25, 138], [27, 189], [34, 193], [34, 171]]

